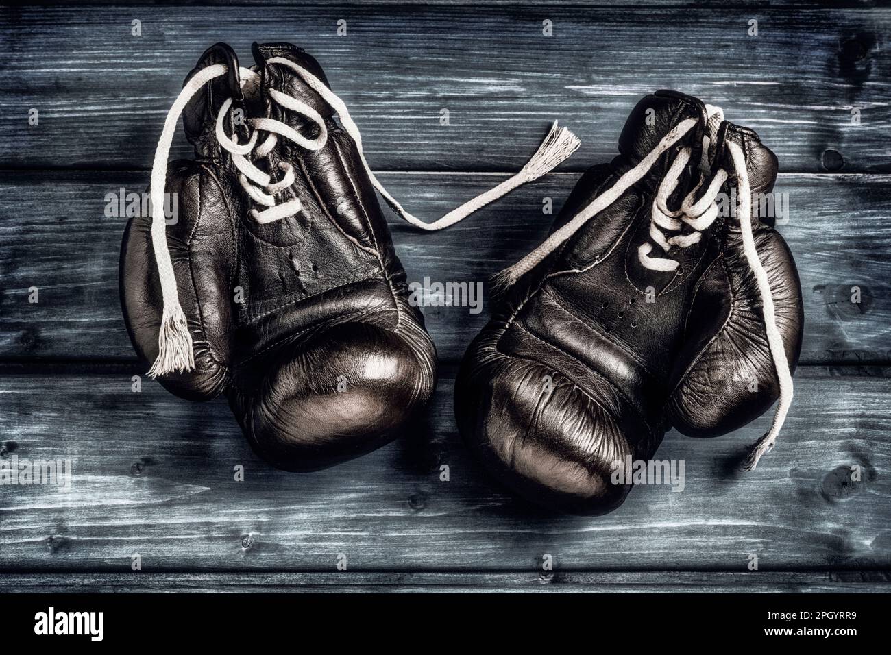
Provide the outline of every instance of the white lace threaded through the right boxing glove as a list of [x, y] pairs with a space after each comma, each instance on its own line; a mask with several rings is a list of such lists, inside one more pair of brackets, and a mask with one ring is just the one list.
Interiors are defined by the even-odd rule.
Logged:
[[[707, 111], [709, 114], [709, 134], [703, 137], [702, 159], [699, 164], [701, 172], [699, 184], [696, 184], [693, 190], [684, 198], [681, 209], [668, 209], [668, 198], [677, 188], [679, 178], [689, 163], [692, 154], [691, 148], [681, 148], [672, 166], [659, 183], [656, 196], [653, 199], [652, 209], [650, 210], [650, 238], [666, 252], [671, 250], [673, 246], [689, 248], [694, 243], [699, 242], [702, 236], [701, 232], [712, 225], [715, 217], [718, 216], [718, 206], [715, 203], [715, 197], [720, 192], [724, 182], [730, 177], [723, 168], [718, 169], [699, 201], [696, 200], [696, 192], [699, 191], [699, 188], [701, 188], [711, 172], [708, 151], [710, 145], [715, 143], [717, 127], [719, 127], [723, 119], [723, 113], [719, 108], [707, 106]], [[495, 287], [502, 291], [506, 290], [511, 284], [517, 282], [522, 275], [527, 274], [544, 258], [560, 247], [588, 220], [617, 201], [633, 184], [640, 181], [650, 171], [650, 168], [656, 164], [658, 158], [664, 152], [671, 148], [674, 143], [680, 141], [683, 135], [686, 135], [696, 126], [697, 122], [698, 119], [685, 119], [678, 123], [637, 166], [626, 171], [624, 175], [617, 179], [615, 184], [597, 196], [587, 207], [579, 211], [566, 225], [552, 233], [538, 248], [520, 259], [519, 262], [495, 275]], [[728, 142], [727, 146], [731, 153], [734, 176], [737, 180], [739, 193], [737, 217], [740, 219], [743, 251], [746, 255], [748, 266], [751, 268], [752, 273], [755, 274], [758, 283], [767, 342], [771, 351], [773, 367], [780, 381], [780, 403], [773, 414], [771, 428], [763, 437], [756, 441], [742, 466], [744, 471], [754, 471], [762, 455], [770, 452], [773, 446], [776, 445], [777, 436], [780, 433], [783, 422], [786, 421], [789, 406], [792, 404], [792, 373], [789, 371], [789, 362], [786, 358], [786, 350], [783, 347], [782, 335], [776, 323], [770, 282], [767, 278], [767, 273], [764, 271], [764, 266], [761, 264], [761, 259], [758, 258], [755, 238], [752, 233], [752, 195], [748, 182], [746, 158], [742, 149], [736, 143]], [[670, 238], [666, 238], [662, 232], [662, 230], [679, 231], [682, 229], [683, 224], [689, 225], [692, 228], [692, 232], [685, 235], [678, 234]], [[650, 257], [652, 250], [653, 245], [650, 242], [645, 242], [638, 248], [638, 258], [642, 266], [650, 270], [664, 272], [673, 271], [679, 266], [674, 259]]]

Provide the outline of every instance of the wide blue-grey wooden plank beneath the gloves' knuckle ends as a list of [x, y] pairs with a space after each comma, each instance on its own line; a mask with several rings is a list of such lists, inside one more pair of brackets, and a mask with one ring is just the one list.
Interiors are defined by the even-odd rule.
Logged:
[[683, 492], [640, 487], [600, 518], [538, 512], [492, 487], [456, 434], [454, 368], [407, 438], [302, 475], [259, 461], [223, 402], [147, 379], [134, 393], [133, 373], [0, 375], [0, 456], [74, 471], [68, 488], [0, 486], [0, 570], [127, 573], [136, 553], [149, 573], [333, 573], [339, 553], [351, 571], [537, 573], [546, 553], [568, 571], [745, 574], [751, 554], [761, 571], [891, 565], [887, 368], [799, 369], [779, 445], [751, 474], [734, 467], [768, 416], [727, 438], [672, 432], [657, 456], [685, 463]]

